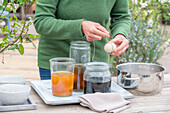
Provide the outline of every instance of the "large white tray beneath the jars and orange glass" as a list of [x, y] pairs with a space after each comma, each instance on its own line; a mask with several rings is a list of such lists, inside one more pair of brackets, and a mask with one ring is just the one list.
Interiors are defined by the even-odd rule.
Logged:
[[[52, 94], [51, 80], [34, 80], [30, 81], [31, 86], [39, 94], [42, 100], [49, 105], [62, 105], [62, 104], [73, 104], [80, 103], [78, 96], [82, 95], [82, 92], [73, 92], [69, 97], [57, 97]], [[112, 82], [111, 91], [119, 93], [125, 99], [133, 98], [133, 95], [127, 90], [123, 89], [115, 82]]]

